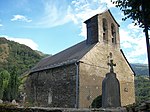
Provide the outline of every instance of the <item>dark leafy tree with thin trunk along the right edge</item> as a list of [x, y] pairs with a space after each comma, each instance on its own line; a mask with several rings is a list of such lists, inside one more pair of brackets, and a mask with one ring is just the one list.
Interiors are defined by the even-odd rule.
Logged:
[[147, 44], [147, 56], [149, 65], [149, 78], [150, 78], [150, 44], [148, 30], [150, 30], [150, 2], [149, 0], [111, 0], [116, 7], [120, 8], [124, 12], [125, 21], [128, 18], [133, 20], [135, 25], [144, 28], [146, 44]]

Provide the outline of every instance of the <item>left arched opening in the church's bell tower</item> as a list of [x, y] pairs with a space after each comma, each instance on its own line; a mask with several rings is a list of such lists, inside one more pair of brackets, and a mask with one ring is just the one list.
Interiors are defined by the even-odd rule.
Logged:
[[103, 18], [103, 41], [108, 42], [108, 25], [105, 18]]

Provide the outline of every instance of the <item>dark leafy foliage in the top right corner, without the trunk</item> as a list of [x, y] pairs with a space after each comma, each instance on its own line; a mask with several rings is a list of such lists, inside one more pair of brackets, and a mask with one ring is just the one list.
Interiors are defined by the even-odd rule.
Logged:
[[147, 25], [150, 28], [150, 2], [149, 0], [111, 0], [116, 7], [123, 11], [125, 17], [123, 20], [131, 18], [135, 25], [144, 27], [143, 11], [147, 17]]

